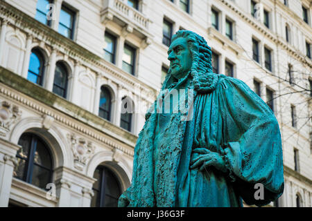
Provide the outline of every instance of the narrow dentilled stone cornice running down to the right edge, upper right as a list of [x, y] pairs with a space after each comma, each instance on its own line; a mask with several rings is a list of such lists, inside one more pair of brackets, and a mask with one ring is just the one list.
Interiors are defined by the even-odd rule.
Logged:
[[300, 50], [295, 50], [293, 47], [289, 47], [287, 44], [285, 44], [284, 39], [282, 40], [280, 37], [277, 36], [277, 34], [273, 33], [272, 30], [266, 28], [263, 23], [255, 22], [252, 15], [247, 14], [241, 10], [238, 6], [236, 6], [235, 3], [232, 1], [227, 0], [220, 0], [225, 6], [233, 10], [237, 15], [239, 15], [242, 19], [247, 21], [247, 23], [250, 23], [251, 26], [253, 26], [256, 30], [259, 30], [264, 37], [267, 37], [271, 41], [273, 41], [277, 46], [281, 46], [281, 48], [284, 48], [287, 50], [293, 57], [301, 61], [302, 63], [306, 64], [310, 68], [312, 68], [312, 61], [309, 59], [306, 59], [305, 56], [300, 52]]

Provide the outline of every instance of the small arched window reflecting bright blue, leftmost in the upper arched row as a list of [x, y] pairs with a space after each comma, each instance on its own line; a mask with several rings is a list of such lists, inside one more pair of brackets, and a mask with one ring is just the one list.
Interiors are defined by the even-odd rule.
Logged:
[[44, 78], [44, 57], [40, 50], [31, 50], [27, 79], [42, 86]]

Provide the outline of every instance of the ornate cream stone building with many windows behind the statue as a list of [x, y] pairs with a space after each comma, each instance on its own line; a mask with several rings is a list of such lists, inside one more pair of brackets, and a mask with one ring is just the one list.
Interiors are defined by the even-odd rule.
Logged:
[[274, 111], [271, 206], [312, 206], [311, 15], [310, 0], [0, 0], [0, 206], [115, 206], [179, 29]]

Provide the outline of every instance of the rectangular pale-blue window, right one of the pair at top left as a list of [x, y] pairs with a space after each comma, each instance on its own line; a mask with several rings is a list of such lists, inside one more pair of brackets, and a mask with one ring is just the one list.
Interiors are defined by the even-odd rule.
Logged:
[[58, 32], [69, 39], [73, 39], [73, 26], [76, 13], [66, 6], [62, 6], [60, 11], [60, 23], [58, 25]]

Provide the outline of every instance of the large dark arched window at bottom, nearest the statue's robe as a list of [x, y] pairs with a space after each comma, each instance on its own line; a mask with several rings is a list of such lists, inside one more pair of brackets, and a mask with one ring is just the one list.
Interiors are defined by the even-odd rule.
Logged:
[[110, 169], [98, 166], [94, 171], [96, 182], [93, 184], [92, 207], [116, 207], [121, 195], [119, 181]]

